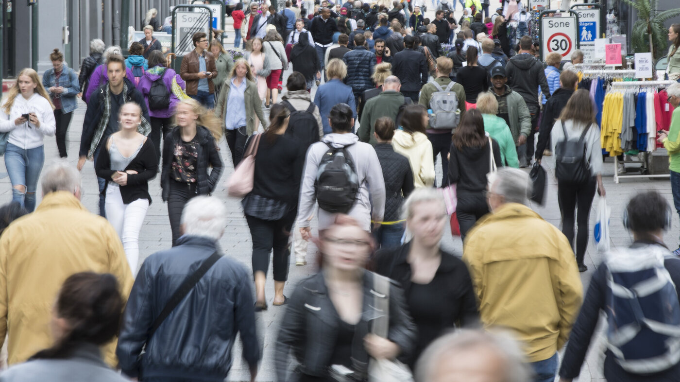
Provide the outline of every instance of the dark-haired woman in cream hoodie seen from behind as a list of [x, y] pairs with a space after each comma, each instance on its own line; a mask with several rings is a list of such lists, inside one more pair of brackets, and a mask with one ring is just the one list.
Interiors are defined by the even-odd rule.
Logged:
[[401, 129], [394, 131], [392, 147], [409, 159], [415, 187], [432, 187], [435, 183], [435, 162], [432, 143], [425, 133], [430, 117], [425, 106], [409, 105], [403, 109]]

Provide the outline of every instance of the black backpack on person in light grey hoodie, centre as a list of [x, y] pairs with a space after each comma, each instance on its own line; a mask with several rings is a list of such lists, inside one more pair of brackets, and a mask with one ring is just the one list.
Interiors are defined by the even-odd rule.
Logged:
[[316, 201], [319, 208], [331, 213], [346, 214], [356, 202], [359, 192], [359, 176], [347, 147], [335, 148], [324, 142], [324, 153], [316, 172]]

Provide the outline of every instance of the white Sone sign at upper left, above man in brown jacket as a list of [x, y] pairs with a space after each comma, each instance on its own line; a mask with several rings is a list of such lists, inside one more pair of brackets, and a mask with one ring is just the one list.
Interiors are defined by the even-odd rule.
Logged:
[[172, 52], [177, 56], [174, 69], [179, 73], [182, 57], [194, 50], [194, 33], [204, 32], [208, 40], [212, 39], [212, 10], [205, 5], [177, 5], [172, 18]]

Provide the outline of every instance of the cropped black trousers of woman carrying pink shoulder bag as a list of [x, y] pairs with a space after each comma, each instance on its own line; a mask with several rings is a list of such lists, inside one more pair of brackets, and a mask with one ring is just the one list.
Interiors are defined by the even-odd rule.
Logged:
[[290, 264], [288, 238], [296, 212], [293, 210], [279, 220], [262, 220], [245, 215], [253, 242], [253, 275], [258, 271], [267, 274], [269, 254], [273, 250], [274, 281], [288, 280], [288, 265]]

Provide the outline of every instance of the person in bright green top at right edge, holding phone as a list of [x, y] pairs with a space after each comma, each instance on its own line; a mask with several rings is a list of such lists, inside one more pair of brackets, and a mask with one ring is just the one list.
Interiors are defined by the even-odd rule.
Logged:
[[[680, 83], [668, 86], [668, 103], [673, 105], [675, 110], [670, 118], [668, 131], [662, 130], [657, 140], [664, 144], [668, 150], [670, 159], [670, 190], [673, 191], [673, 206], [680, 214]], [[673, 251], [677, 256], [680, 255], [680, 246]]]

